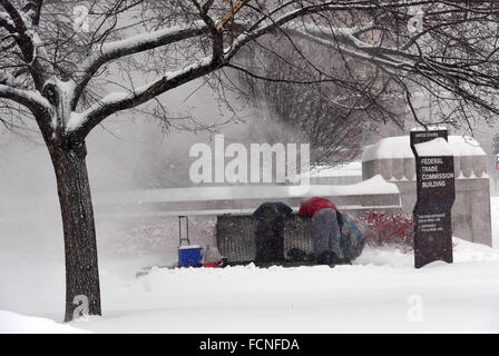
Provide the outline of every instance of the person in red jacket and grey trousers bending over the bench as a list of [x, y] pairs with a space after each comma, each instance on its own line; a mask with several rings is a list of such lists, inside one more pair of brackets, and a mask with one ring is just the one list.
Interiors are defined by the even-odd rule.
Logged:
[[299, 214], [312, 218], [314, 257], [319, 264], [333, 265], [343, 259], [336, 206], [329, 199], [313, 197], [302, 202]]

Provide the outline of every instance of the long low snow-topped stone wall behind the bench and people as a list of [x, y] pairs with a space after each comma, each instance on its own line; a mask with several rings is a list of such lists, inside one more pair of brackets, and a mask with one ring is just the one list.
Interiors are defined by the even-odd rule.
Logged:
[[401, 211], [399, 188], [381, 176], [354, 185], [311, 185], [309, 189], [293, 187], [216, 186], [129, 190], [96, 195], [94, 201], [98, 212], [107, 217], [251, 214], [262, 202], [276, 200], [297, 209], [304, 198], [313, 196], [330, 198], [353, 216], [369, 209]]

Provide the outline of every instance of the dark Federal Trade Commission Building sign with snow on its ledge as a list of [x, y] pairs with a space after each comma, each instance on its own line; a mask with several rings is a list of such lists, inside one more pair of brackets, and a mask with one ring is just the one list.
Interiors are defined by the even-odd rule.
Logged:
[[447, 129], [411, 131], [418, 199], [412, 214], [414, 266], [452, 263], [453, 155]]

